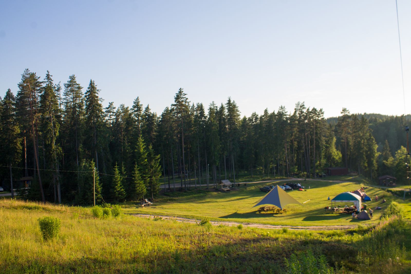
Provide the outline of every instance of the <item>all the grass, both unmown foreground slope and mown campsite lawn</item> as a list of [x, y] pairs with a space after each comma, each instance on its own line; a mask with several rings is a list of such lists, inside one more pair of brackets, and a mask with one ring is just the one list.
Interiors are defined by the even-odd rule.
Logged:
[[[0, 273], [411, 273], [409, 199], [402, 201], [395, 193], [368, 187], [370, 196], [384, 197], [387, 203], [368, 203], [383, 207], [374, 211], [371, 221], [353, 220], [350, 215], [326, 214], [323, 207], [330, 205], [328, 196], [365, 185], [307, 180], [307, 191], [288, 192], [300, 202], [309, 200], [307, 203], [287, 206], [286, 214], [257, 214], [252, 205], [266, 194], [259, 191], [263, 185], [247, 184], [227, 193], [166, 193], [159, 195], [152, 207], [124, 203], [123, 214], [116, 218], [95, 218], [91, 207], [1, 198]], [[393, 210], [393, 205], [387, 208], [393, 201], [399, 203], [395, 208], [402, 213]], [[383, 212], [386, 217], [380, 219]], [[199, 222], [127, 213], [189, 216]], [[58, 237], [48, 241], [42, 238], [37, 221], [45, 216], [61, 220]], [[203, 216], [290, 226], [352, 227], [291, 230], [211, 226]]]

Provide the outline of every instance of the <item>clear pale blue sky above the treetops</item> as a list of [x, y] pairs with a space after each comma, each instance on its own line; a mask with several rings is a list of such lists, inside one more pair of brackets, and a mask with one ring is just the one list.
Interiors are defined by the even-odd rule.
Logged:
[[[411, 1], [398, 9], [409, 100]], [[404, 113], [395, 0], [2, 0], [0, 18], [0, 96], [28, 68], [157, 114], [180, 87], [205, 106], [231, 96], [247, 116], [297, 101], [326, 117]]]

